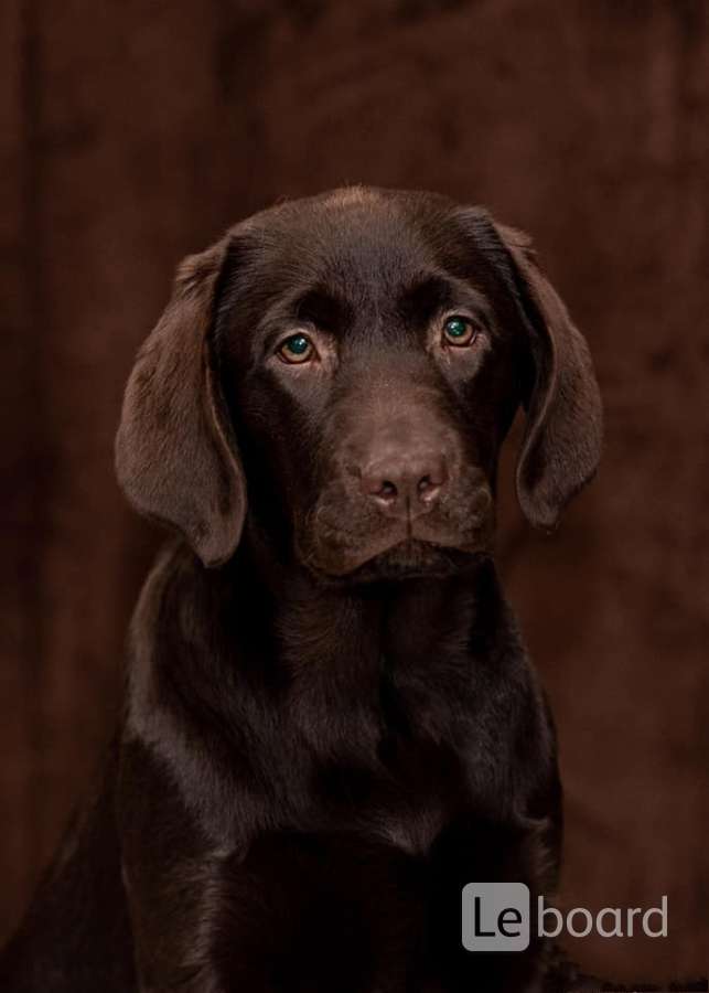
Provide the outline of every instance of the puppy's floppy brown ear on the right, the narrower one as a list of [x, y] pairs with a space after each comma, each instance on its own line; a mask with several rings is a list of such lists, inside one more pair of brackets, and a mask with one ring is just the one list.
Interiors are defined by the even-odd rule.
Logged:
[[476, 212], [476, 244], [515, 297], [530, 342], [527, 424], [517, 461], [517, 496], [536, 527], [556, 526], [566, 504], [598, 469], [601, 395], [586, 340], [539, 268], [523, 232]]

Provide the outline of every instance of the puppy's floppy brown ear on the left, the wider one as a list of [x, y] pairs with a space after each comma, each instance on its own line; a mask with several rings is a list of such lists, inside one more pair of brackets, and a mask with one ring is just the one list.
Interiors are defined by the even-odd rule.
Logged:
[[246, 511], [211, 348], [229, 244], [227, 236], [180, 266], [172, 299], [138, 353], [116, 438], [130, 502], [182, 532], [206, 566], [232, 556]]

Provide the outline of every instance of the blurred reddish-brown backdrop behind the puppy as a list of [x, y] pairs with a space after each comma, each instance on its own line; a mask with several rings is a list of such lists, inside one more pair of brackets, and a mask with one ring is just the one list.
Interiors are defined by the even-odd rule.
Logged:
[[709, 4], [6, 0], [0, 14], [0, 937], [106, 741], [154, 535], [111, 444], [186, 252], [277, 197], [425, 186], [528, 228], [594, 352], [608, 441], [502, 558], [549, 687], [568, 906], [656, 905], [617, 975], [707, 969]]

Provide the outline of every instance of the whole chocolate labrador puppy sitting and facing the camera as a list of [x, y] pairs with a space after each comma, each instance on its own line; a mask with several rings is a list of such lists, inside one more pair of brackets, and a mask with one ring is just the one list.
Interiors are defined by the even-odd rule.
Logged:
[[534, 938], [461, 943], [466, 883], [548, 894], [559, 864], [554, 727], [493, 562], [520, 405], [546, 531], [597, 469], [601, 402], [528, 238], [484, 210], [352, 188], [183, 263], [116, 448], [176, 534], [4, 993], [558, 981]]

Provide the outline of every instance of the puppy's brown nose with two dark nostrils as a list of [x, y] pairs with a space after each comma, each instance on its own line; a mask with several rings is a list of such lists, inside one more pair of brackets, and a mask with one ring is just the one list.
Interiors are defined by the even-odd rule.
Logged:
[[445, 458], [439, 452], [398, 451], [375, 457], [362, 470], [362, 490], [391, 517], [428, 513], [448, 480]]

